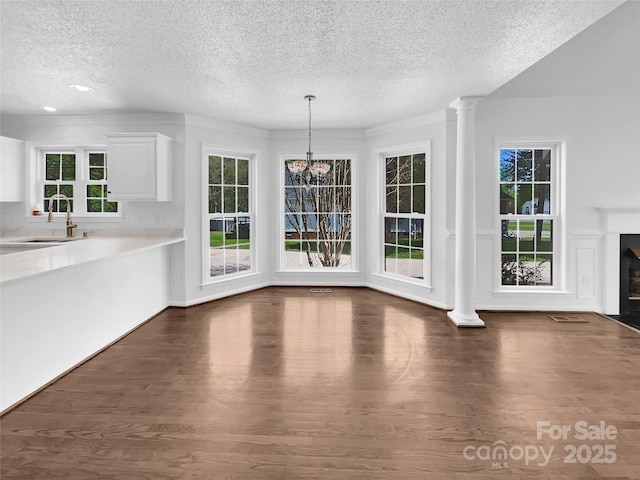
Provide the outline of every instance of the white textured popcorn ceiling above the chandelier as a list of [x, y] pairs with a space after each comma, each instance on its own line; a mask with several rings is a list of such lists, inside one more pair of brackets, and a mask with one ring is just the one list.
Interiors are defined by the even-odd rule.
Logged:
[[304, 128], [314, 94], [315, 127], [371, 127], [489, 94], [621, 3], [2, 0], [1, 109]]

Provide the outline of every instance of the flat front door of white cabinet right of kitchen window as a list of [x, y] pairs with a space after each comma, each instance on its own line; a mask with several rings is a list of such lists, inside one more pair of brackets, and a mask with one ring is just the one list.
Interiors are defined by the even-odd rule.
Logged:
[[109, 137], [109, 200], [156, 198], [156, 139]]

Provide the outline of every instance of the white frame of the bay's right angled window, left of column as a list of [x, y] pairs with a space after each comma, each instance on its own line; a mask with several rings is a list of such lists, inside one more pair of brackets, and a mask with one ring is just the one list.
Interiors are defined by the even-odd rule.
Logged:
[[[419, 285], [421, 287], [431, 288], [431, 275], [432, 275], [432, 220], [433, 220], [433, 209], [432, 209], [432, 199], [431, 194], [433, 190], [432, 186], [432, 160], [431, 160], [431, 141], [426, 140], [424, 142], [408, 144], [408, 145], [396, 145], [392, 147], [387, 147], [384, 149], [376, 150], [378, 154], [378, 234], [376, 235], [376, 257], [378, 259], [377, 264], [377, 272], [379, 275], [383, 277], [390, 278], [396, 281], [410, 283], [413, 285]], [[401, 157], [404, 155], [415, 155], [419, 153], [425, 154], [425, 213], [424, 214], [416, 214], [416, 213], [402, 213], [396, 214], [396, 216], [407, 217], [410, 219], [422, 219], [424, 225], [423, 232], [423, 278], [415, 278], [407, 275], [400, 275], [397, 273], [391, 273], [385, 271], [385, 239], [384, 239], [384, 219], [387, 216], [387, 202], [386, 202], [386, 193], [387, 193], [387, 181], [386, 181], [386, 159], [389, 157]]]

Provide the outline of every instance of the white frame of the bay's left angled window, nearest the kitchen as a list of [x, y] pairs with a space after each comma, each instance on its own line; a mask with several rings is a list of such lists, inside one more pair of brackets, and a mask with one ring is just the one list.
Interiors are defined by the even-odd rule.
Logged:
[[[243, 159], [249, 161], [249, 211], [247, 213], [209, 213], [209, 156], [215, 155], [220, 157], [232, 157], [236, 159]], [[256, 223], [256, 198], [257, 198], [257, 182], [256, 182], [256, 163], [258, 158], [258, 152], [243, 148], [236, 148], [231, 146], [218, 146], [212, 144], [202, 144], [202, 194], [201, 194], [201, 207], [202, 207], [202, 252], [200, 258], [202, 259], [202, 283], [201, 286], [207, 287], [208, 285], [220, 284], [223, 282], [233, 281], [240, 277], [248, 277], [257, 273], [257, 248], [258, 248], [258, 228]], [[223, 217], [249, 217], [251, 237], [250, 237], [250, 263], [251, 268], [248, 270], [242, 270], [239, 272], [225, 273], [212, 277], [211, 264], [210, 264], [210, 245], [209, 245], [209, 221], [212, 218]]]

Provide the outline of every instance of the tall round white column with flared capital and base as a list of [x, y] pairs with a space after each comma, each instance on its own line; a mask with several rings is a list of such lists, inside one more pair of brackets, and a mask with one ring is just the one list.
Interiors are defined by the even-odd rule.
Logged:
[[456, 140], [455, 308], [447, 312], [458, 327], [484, 327], [475, 310], [476, 167], [475, 109], [481, 97], [460, 97]]

